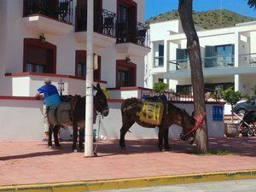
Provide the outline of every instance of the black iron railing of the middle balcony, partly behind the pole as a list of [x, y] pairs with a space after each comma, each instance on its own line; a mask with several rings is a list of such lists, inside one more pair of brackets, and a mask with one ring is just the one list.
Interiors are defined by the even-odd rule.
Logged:
[[[76, 32], [87, 30], [87, 8], [76, 6]], [[94, 19], [94, 32], [115, 37], [115, 13], [102, 9], [102, 15]]]

